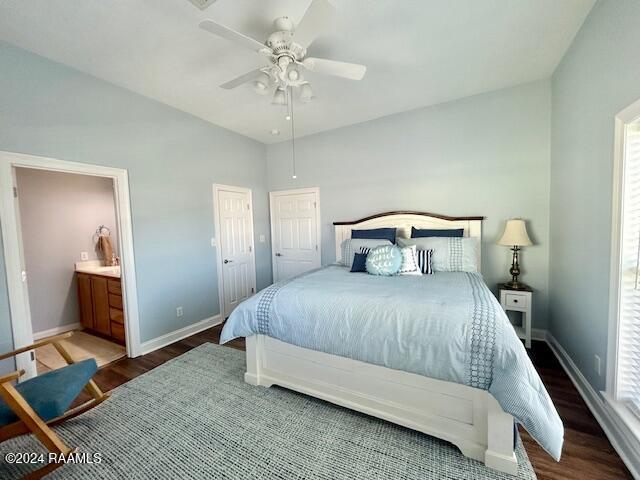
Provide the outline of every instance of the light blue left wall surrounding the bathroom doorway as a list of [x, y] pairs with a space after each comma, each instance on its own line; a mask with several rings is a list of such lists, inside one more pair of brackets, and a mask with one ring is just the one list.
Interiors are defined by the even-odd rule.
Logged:
[[[262, 144], [2, 43], [0, 72], [0, 150], [128, 170], [142, 341], [220, 310], [213, 183], [253, 190], [258, 288], [271, 282]], [[3, 279], [1, 350], [6, 295]]]

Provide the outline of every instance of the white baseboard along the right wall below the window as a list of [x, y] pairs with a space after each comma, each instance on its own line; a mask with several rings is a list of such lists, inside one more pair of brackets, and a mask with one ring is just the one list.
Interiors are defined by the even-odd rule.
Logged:
[[548, 331], [545, 340], [633, 478], [640, 479], [640, 442], [638, 439], [621, 421], [603, 396], [593, 389], [567, 351]]

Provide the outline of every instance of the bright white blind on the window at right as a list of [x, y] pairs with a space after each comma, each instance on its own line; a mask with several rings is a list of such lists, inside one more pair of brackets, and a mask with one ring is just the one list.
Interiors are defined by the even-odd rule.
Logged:
[[640, 121], [625, 129], [617, 400], [640, 416]]

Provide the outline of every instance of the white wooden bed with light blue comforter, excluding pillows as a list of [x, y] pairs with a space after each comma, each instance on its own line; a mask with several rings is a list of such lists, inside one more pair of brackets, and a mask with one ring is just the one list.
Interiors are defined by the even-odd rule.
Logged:
[[462, 228], [480, 240], [482, 217], [388, 212], [334, 226], [336, 265], [262, 290], [227, 321], [221, 343], [246, 337], [245, 381], [433, 435], [511, 474], [516, 417], [558, 460], [562, 422], [479, 273], [383, 278], [339, 265], [352, 229]]

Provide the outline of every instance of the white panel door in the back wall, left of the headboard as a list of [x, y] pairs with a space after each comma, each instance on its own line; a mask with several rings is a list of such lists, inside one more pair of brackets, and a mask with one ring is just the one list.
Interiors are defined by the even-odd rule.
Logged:
[[320, 266], [317, 189], [271, 193], [274, 281]]

